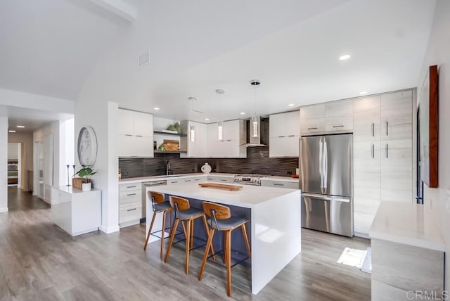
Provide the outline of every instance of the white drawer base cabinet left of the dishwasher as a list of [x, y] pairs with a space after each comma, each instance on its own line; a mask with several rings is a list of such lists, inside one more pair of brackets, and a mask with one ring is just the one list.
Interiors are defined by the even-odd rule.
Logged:
[[141, 183], [119, 184], [119, 226], [139, 224], [142, 213]]

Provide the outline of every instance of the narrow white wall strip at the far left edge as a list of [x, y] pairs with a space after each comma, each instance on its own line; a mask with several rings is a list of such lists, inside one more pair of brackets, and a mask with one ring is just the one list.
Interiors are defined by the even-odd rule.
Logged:
[[8, 212], [8, 118], [0, 117], [0, 212]]

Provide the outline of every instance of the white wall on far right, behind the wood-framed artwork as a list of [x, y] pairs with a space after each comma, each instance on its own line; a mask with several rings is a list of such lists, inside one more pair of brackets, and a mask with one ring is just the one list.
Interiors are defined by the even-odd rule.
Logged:
[[[428, 49], [423, 60], [418, 87], [420, 88], [430, 65], [439, 70], [439, 188], [425, 185], [425, 205], [435, 210], [436, 221], [446, 241], [446, 252], [450, 254], [450, 1], [438, 0], [435, 9]], [[420, 91], [418, 92], [420, 95]], [[448, 258], [448, 257], [447, 257]], [[450, 288], [450, 264], [446, 263], [445, 287]]]

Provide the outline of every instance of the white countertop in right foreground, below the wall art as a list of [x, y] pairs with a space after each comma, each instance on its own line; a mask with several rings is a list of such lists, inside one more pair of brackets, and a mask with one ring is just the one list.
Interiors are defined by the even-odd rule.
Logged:
[[424, 205], [382, 202], [369, 236], [444, 252], [444, 239], [435, 226], [435, 214]]

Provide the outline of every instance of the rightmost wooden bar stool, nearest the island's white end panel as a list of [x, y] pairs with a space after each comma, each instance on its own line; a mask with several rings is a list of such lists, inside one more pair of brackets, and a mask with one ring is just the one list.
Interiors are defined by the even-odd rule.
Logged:
[[247, 247], [248, 257], [252, 257], [252, 252], [250, 250], [250, 243], [248, 242], [247, 231], [245, 230], [245, 224], [248, 219], [240, 217], [231, 217], [230, 208], [224, 205], [219, 205], [216, 203], [203, 202], [203, 212], [207, 215], [207, 226], [208, 226], [208, 241], [206, 243], [205, 255], [203, 255], [202, 266], [198, 273], [198, 280], [202, 280], [203, 271], [205, 270], [206, 261], [208, 255], [210, 254], [210, 249], [212, 250], [212, 238], [214, 237], [214, 232], [224, 231], [224, 262], [226, 263], [226, 295], [231, 297], [231, 231], [238, 228], [242, 230], [244, 236], [245, 245]]

